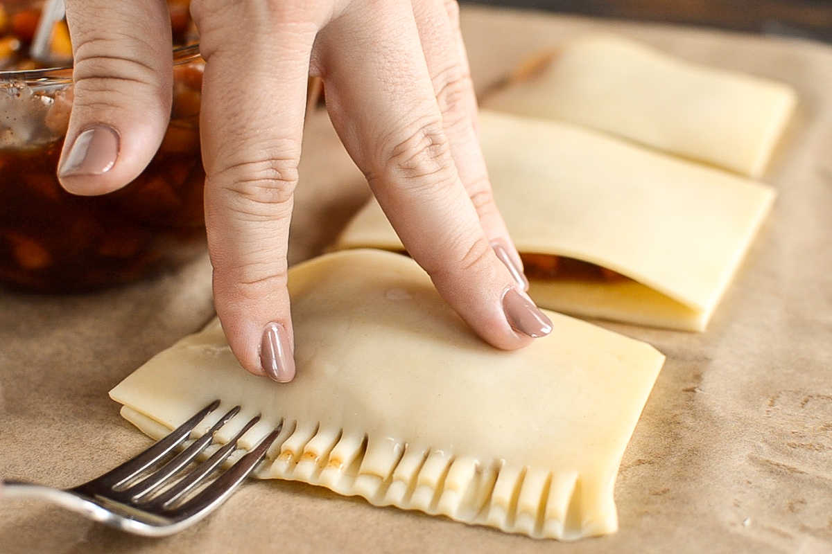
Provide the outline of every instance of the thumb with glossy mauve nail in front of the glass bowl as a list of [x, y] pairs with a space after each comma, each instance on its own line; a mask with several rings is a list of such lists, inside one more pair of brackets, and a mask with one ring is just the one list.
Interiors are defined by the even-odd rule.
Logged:
[[165, 0], [66, 0], [74, 100], [58, 178], [104, 194], [141, 173], [171, 114], [171, 21]]

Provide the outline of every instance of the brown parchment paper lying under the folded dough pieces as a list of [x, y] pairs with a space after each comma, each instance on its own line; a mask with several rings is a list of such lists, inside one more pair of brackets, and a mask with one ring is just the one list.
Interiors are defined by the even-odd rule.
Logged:
[[[598, 28], [800, 94], [765, 175], [780, 198], [709, 330], [604, 324], [667, 355], [622, 463], [619, 532], [534, 541], [300, 483], [251, 482], [166, 539], [0, 500], [0, 552], [832, 552], [832, 48], [463, 8], [480, 91], [528, 53]], [[304, 152], [292, 262], [320, 252], [368, 194], [325, 114], [310, 120]], [[99, 294], [0, 292], [0, 475], [66, 487], [146, 446], [106, 392], [210, 316], [206, 258]]]

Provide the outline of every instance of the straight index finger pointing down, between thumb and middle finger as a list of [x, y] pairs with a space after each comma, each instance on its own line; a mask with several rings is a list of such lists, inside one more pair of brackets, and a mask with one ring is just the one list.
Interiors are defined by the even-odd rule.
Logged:
[[215, 308], [231, 350], [246, 370], [286, 381], [295, 374], [286, 253], [319, 24], [311, 10], [260, 7], [194, 10], [206, 59], [206, 227]]

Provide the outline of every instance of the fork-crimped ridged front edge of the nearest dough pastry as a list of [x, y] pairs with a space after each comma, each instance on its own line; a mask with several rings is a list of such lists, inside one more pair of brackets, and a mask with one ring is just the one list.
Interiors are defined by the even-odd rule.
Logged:
[[[224, 413], [226, 409], [229, 409], [229, 406], [230, 403], [220, 400], [220, 408], [216, 409], [214, 414]], [[163, 424], [128, 405], [121, 407], [121, 415], [152, 439], [161, 439], [171, 429], [174, 429], [176, 424], [181, 424], [181, 422], [172, 425]], [[243, 419], [249, 419], [248, 415], [238, 414], [232, 418], [232, 421], [240, 424], [240, 421]], [[206, 419], [207, 421], [210, 421], [210, 419]], [[318, 436], [320, 424], [314, 425], [316, 429], [315, 433], [309, 436], [308, 439], [304, 439], [303, 437], [308, 434], [306, 429], [310, 427], [309, 425], [299, 429], [296, 422], [291, 420], [285, 421], [284, 425], [284, 430], [292, 430], [288, 434], [284, 432], [280, 433], [280, 436], [275, 440], [275, 444], [269, 450], [264, 462], [260, 463], [260, 466], [255, 470], [255, 477], [260, 479], [280, 478], [287, 481], [300, 481], [314, 486], [329, 488], [334, 493], [345, 496], [359, 496], [376, 506], [394, 506], [406, 510], [418, 510], [428, 515], [446, 516], [474, 525], [498, 527], [503, 532], [521, 533], [532, 538], [573, 540], [586, 536], [583, 528], [577, 532], [567, 532], [565, 522], [553, 522], [551, 521], [552, 517], [547, 517], [547, 515], [551, 516], [552, 514], [566, 516], [569, 513], [572, 513], [572, 517], [575, 517], [575, 512], [580, 509], [578, 492], [581, 477], [577, 471], [554, 472], [547, 469], [531, 468], [527, 465], [512, 466], [506, 465], [500, 459], [494, 459], [490, 463], [478, 463], [473, 460], [469, 461], [465, 456], [453, 455], [448, 457], [447, 463], [443, 463], [438, 468], [438, 472], [434, 469], [432, 472], [428, 472], [427, 475], [423, 475], [428, 458], [433, 453], [439, 452], [438, 450], [429, 449], [418, 454], [423, 458], [423, 462], [420, 464], [418, 471], [414, 473], [414, 478], [409, 483], [404, 483], [407, 485], [404, 497], [390, 501], [389, 492], [396, 482], [396, 479], [393, 477], [394, 473], [409, 453], [407, 444], [399, 444], [399, 446], [403, 447], [403, 452], [387, 468], [388, 476], [384, 480], [379, 479], [376, 486], [372, 488], [357, 490], [354, 487], [356, 481], [359, 478], [368, 477], [369, 475], [368, 473], [362, 473], [360, 468], [363, 465], [364, 459], [366, 459], [365, 455], [367, 451], [364, 445], [367, 444], [368, 439], [365, 438], [361, 441], [362, 447], [359, 448], [356, 460], [350, 463], [345, 471], [339, 472], [335, 468], [330, 469], [329, 462], [334, 449], [337, 448], [341, 440], [345, 439], [344, 435], [348, 435], [344, 433], [344, 429], [340, 429], [339, 439], [331, 447], [326, 449], [325, 452], [316, 452], [314, 456], [307, 456], [309, 452], [306, 447]], [[210, 425], [206, 423], [201, 424], [191, 434], [191, 440], [196, 440], [201, 437], [209, 427]], [[248, 445], [247, 448], [251, 448], [251, 446], [257, 444], [268, 433], [268, 429], [250, 429], [241, 439], [240, 443]], [[297, 450], [285, 449], [287, 442], [291, 443], [293, 439], [297, 440], [298, 433], [301, 434], [301, 440], [297, 442], [303, 444], [303, 446]], [[372, 440], [372, 438], [369, 438], [369, 440]], [[190, 441], [185, 446], [187, 444], [190, 444]], [[206, 449], [202, 457], [207, 458], [218, 448], [220, 446], [212, 445], [209, 449]], [[228, 460], [226, 460], [225, 465], [228, 466], [231, 463], [235, 463], [245, 452], [245, 448], [235, 450]], [[290, 456], [287, 456], [286, 453], [290, 453]], [[306, 461], [305, 458], [313, 459], [314, 461]], [[280, 463], [281, 461], [284, 463]], [[448, 474], [453, 471], [455, 463], [473, 463], [476, 467], [470, 478], [462, 482], [452, 481], [448, 483]], [[315, 466], [311, 472], [308, 467], [310, 464], [314, 464]], [[338, 478], [333, 479], [333, 475], [327, 474], [329, 473], [328, 469], [329, 472], [339, 473]], [[542, 483], [532, 485], [532, 489], [527, 491], [527, 476], [532, 472], [542, 472], [545, 477], [542, 479]], [[440, 478], [435, 479], [437, 473], [441, 473], [441, 475]], [[503, 482], [501, 477], [505, 479], [505, 476], [508, 476], [508, 486], [504, 487], [508, 491], [508, 494], [501, 494], [498, 491], [498, 486]], [[427, 478], [430, 481], [436, 481], [438, 483], [432, 492], [428, 505], [414, 503], [414, 495], [420, 487], [420, 478]], [[561, 483], [563, 490], [557, 490], [558, 483]], [[497, 494], [495, 494], [495, 491]], [[453, 503], [447, 500], [447, 498], [453, 497], [455, 493], [458, 493], [460, 497], [477, 498], [478, 502], [473, 504], [475, 509], [468, 510], [467, 512], [458, 512], [453, 509], [453, 507], [458, 507], [460, 503]], [[519, 502], [521, 496], [524, 498], [532, 496], [534, 498], [533, 503], [537, 506], [535, 513], [522, 510], [522, 505]], [[563, 502], [564, 500], [566, 500], [566, 503]], [[552, 504], [555, 502], [558, 502], [559, 505], [553, 506]], [[526, 504], [529, 503], [526, 502]], [[529, 518], [532, 518], [532, 525], [528, 523]], [[587, 522], [583, 523], [587, 525]], [[588, 523], [592, 526], [597, 526], [597, 522]], [[611, 521], [605, 522], [602, 528], [594, 529], [592, 534], [615, 532], [616, 530], [617, 517], [613, 516]]]

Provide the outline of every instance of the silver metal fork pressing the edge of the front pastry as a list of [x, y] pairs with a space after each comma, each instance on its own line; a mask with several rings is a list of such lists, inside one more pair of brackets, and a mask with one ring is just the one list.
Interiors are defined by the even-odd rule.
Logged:
[[278, 425], [225, 473], [210, 481], [235, 451], [240, 437], [260, 419], [260, 416], [251, 419], [227, 444], [188, 471], [196, 457], [213, 443], [216, 431], [240, 412], [240, 406], [230, 409], [206, 434], [176, 454], [177, 447], [186, 442], [196, 425], [219, 406], [220, 401], [215, 400], [164, 439], [92, 481], [67, 489], [5, 481], [0, 482], [0, 497], [39, 498], [121, 531], [146, 537], [179, 532], [206, 517], [230, 497], [265, 458], [282, 428], [282, 424]]

